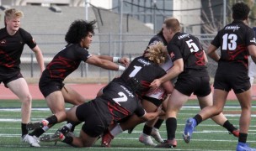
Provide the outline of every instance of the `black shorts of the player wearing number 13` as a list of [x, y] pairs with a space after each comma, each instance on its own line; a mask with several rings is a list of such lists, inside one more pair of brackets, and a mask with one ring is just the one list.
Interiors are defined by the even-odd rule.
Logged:
[[233, 90], [235, 94], [248, 91], [251, 87], [248, 75], [227, 75], [216, 73], [214, 79], [214, 88], [223, 91]]

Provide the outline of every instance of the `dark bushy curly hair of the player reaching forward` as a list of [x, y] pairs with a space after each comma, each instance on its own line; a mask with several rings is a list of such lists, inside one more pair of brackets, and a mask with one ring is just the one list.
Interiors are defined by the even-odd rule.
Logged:
[[94, 34], [96, 21], [87, 22], [82, 19], [75, 20], [71, 23], [67, 34], [65, 35], [65, 40], [67, 44], [77, 44], [80, 43], [81, 39], [86, 37], [88, 33]]

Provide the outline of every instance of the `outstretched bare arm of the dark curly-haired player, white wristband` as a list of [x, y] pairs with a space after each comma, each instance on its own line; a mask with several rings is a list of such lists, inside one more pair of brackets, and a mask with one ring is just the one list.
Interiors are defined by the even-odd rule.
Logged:
[[112, 61], [101, 59], [99, 55], [92, 55], [85, 62], [90, 65], [99, 66], [106, 70], [125, 70], [124, 66], [116, 65]]

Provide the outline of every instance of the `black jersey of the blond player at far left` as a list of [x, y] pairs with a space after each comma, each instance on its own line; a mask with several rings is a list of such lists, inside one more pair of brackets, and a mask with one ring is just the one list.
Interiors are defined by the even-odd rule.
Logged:
[[30, 49], [36, 46], [31, 34], [24, 29], [19, 28], [13, 35], [9, 35], [6, 28], [0, 29], [0, 72], [20, 70], [24, 44], [28, 44]]

